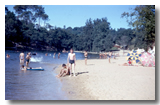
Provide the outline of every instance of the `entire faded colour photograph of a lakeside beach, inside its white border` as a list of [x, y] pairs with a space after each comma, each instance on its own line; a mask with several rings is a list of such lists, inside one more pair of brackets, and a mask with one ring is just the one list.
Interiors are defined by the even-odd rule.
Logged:
[[5, 100], [155, 100], [155, 5], [5, 5]]

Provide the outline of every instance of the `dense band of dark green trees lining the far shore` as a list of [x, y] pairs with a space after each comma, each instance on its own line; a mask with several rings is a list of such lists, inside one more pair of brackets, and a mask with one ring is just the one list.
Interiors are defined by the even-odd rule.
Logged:
[[[42, 6], [16, 5], [14, 9], [16, 14], [5, 8], [6, 47], [12, 47], [14, 42], [38, 50], [61, 51], [63, 48], [66, 50], [73, 48], [80, 51], [99, 52], [117, 50], [113, 47], [114, 44], [127, 46], [130, 49], [143, 48], [148, 46], [148, 43], [152, 44], [155, 40], [154, 20], [150, 21], [152, 24], [142, 22], [143, 27], [140, 29], [120, 28], [115, 30], [110, 27], [107, 18], [95, 20], [90, 18], [86, 21], [85, 26], [74, 27], [73, 29], [65, 26], [64, 28], [57, 28], [46, 23], [49, 16], [45, 14]], [[126, 16], [126, 14], [124, 13], [123, 16]], [[153, 19], [154, 17], [146, 16], [146, 18]], [[137, 21], [141, 22], [140, 20]], [[44, 24], [41, 23], [42, 21]], [[132, 24], [135, 26], [138, 22]], [[149, 36], [150, 34], [151, 36]]]

